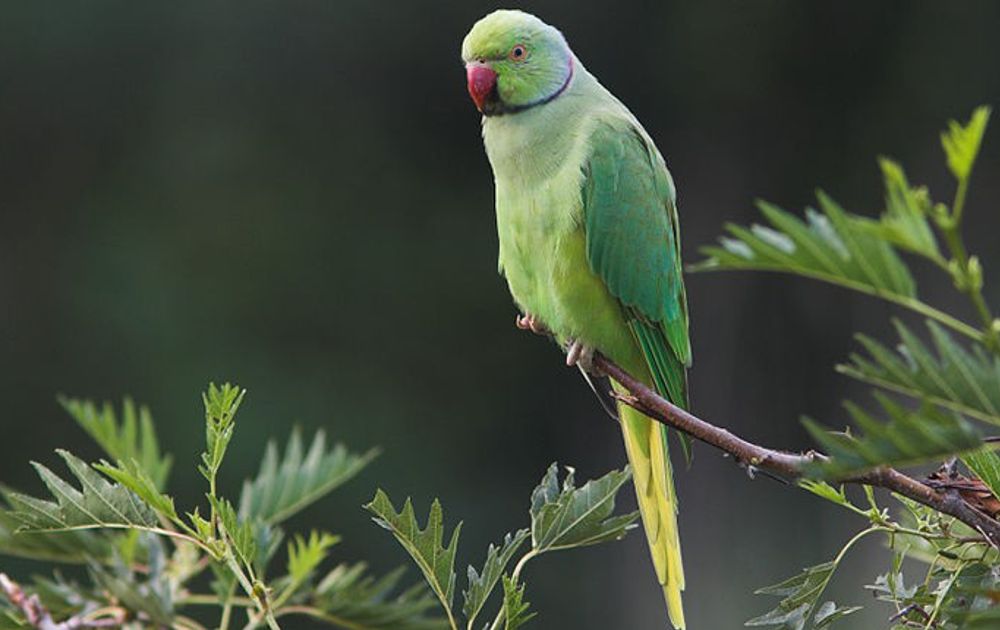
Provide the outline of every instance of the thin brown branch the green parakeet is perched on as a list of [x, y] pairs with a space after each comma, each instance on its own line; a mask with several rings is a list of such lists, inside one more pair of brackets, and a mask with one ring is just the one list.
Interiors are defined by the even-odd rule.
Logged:
[[[789, 479], [799, 479], [810, 464], [825, 459], [824, 455], [815, 452], [789, 453], [748, 442], [670, 403], [607, 357], [595, 354], [593, 365], [628, 390], [630, 395], [617, 396], [624, 404], [728, 453], [751, 470], [759, 468]], [[954, 516], [982, 534], [991, 545], [1000, 547], [1000, 522], [967, 503], [957, 490], [939, 492], [894, 468], [885, 466], [834, 481], [891, 490], [938, 512]]]

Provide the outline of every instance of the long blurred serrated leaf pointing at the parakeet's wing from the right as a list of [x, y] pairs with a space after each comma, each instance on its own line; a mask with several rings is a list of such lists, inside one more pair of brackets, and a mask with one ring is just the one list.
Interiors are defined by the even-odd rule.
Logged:
[[822, 213], [807, 208], [805, 221], [760, 202], [770, 226], [726, 226], [732, 238], [705, 247], [696, 270], [783, 271], [831, 282], [897, 302], [916, 297], [916, 285], [892, 246], [871, 231], [871, 220], [845, 212], [818, 193]]

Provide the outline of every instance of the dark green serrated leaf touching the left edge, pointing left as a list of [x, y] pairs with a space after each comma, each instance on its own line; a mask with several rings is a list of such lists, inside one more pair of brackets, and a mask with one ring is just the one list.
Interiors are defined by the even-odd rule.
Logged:
[[97, 527], [151, 528], [159, 524], [156, 513], [135, 493], [112, 484], [71, 453], [56, 451], [66, 462], [80, 489], [61, 479], [42, 464], [32, 462], [55, 501], [10, 492], [7, 500], [16, 510], [11, 515], [26, 531], [65, 531]]

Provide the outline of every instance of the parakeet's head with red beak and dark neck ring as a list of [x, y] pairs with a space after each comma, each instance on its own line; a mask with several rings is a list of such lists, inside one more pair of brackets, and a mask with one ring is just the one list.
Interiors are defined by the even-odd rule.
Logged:
[[486, 116], [513, 114], [559, 96], [573, 78], [562, 33], [523, 11], [476, 22], [462, 42], [469, 96]]

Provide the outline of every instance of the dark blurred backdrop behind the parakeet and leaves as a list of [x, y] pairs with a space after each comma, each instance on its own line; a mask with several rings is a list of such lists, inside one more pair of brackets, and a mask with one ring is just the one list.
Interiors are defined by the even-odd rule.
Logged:
[[[524, 2], [644, 122], [673, 171], [685, 259], [762, 197], [799, 209], [822, 186], [875, 213], [875, 157], [948, 201], [938, 132], [1000, 103], [993, 2]], [[493, 3], [8, 3], [0, 9], [0, 481], [28, 460], [97, 450], [57, 393], [150, 405], [200, 500], [199, 392], [249, 389], [223, 489], [269, 436], [323, 427], [384, 453], [293, 527], [345, 535], [339, 559], [405, 561], [360, 509], [376, 486], [465, 521], [459, 562], [527, 522], [552, 461], [592, 476], [624, 452], [556, 349], [516, 330], [496, 273], [493, 187], [459, 45]], [[996, 125], [994, 125], [995, 127]], [[997, 296], [997, 130], [968, 206]], [[947, 280], [922, 295], [969, 316]], [[798, 418], [842, 425], [865, 388], [832, 371], [890, 307], [764, 274], [688, 277], [694, 411], [805, 448]], [[771, 607], [755, 588], [825, 561], [856, 517], [707, 447], [678, 474], [692, 628]], [[634, 504], [630, 493], [625, 502]], [[888, 566], [873, 541], [832, 596]], [[6, 566], [3, 566], [6, 565]], [[0, 559], [18, 575], [35, 567]], [[416, 579], [415, 573], [411, 575]], [[528, 571], [539, 628], [662, 628], [641, 535]], [[460, 584], [463, 584], [460, 581]], [[864, 615], [864, 616], [861, 616]]]

